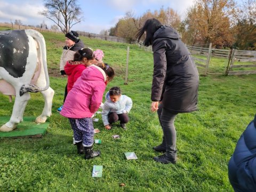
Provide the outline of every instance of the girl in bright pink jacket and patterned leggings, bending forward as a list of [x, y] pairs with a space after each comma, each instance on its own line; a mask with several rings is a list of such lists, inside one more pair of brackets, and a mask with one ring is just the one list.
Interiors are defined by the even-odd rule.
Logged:
[[114, 76], [114, 70], [108, 65], [87, 67], [69, 91], [61, 110], [60, 115], [69, 119], [73, 129], [77, 153], [85, 153], [85, 159], [100, 155], [100, 151], [93, 151], [94, 128], [91, 117], [99, 109], [106, 84]]

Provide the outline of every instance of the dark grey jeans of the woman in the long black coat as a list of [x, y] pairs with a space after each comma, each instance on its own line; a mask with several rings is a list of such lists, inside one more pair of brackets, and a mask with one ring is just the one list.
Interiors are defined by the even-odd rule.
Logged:
[[176, 159], [177, 149], [174, 119], [177, 116], [177, 113], [172, 113], [169, 110], [163, 108], [163, 105], [161, 103], [158, 106], [157, 114], [164, 133], [163, 145], [165, 144], [166, 146], [165, 155], [172, 159]]

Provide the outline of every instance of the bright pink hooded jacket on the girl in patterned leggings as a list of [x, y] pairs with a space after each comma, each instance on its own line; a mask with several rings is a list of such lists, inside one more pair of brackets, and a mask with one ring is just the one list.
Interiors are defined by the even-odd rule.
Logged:
[[68, 92], [60, 115], [68, 118], [85, 118], [99, 109], [106, 89], [106, 74], [97, 66], [83, 70], [73, 88]]

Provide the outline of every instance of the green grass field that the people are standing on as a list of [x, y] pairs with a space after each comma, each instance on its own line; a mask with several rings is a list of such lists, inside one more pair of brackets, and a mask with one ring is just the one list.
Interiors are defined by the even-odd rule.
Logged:
[[[162, 139], [156, 113], [150, 112], [153, 55], [136, 45], [83, 38], [92, 49], [102, 49], [105, 62], [116, 77], [107, 86], [120, 86], [133, 100], [127, 131], [103, 127], [101, 116], [94, 123], [101, 139], [94, 149], [102, 155], [84, 160], [72, 144], [68, 119], [57, 112], [62, 105], [66, 78], [58, 75], [64, 35], [43, 33], [51, 87], [55, 91], [50, 126], [43, 138], [0, 138], [0, 191], [233, 191], [228, 180], [228, 161], [236, 142], [252, 121], [256, 107], [256, 75], [200, 77], [198, 110], [179, 114], [177, 164], [160, 164], [152, 147]], [[124, 85], [126, 49], [130, 46], [128, 85]], [[219, 70], [221, 59], [214, 59]], [[212, 61], [213, 63], [213, 61]], [[224, 64], [223, 64], [224, 65]], [[226, 65], [226, 63], [225, 63]], [[24, 116], [37, 116], [43, 109], [40, 93], [31, 93]], [[0, 116], [11, 116], [13, 102], [0, 95]], [[114, 140], [111, 135], [119, 134]], [[126, 160], [134, 151], [138, 159]], [[92, 178], [93, 165], [103, 165], [102, 178]], [[125, 186], [120, 186], [124, 183]]]

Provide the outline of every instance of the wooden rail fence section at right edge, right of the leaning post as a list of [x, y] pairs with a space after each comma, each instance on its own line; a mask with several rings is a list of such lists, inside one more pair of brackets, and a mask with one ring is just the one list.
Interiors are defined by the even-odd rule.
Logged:
[[226, 75], [256, 74], [256, 51], [233, 49], [231, 51]]

